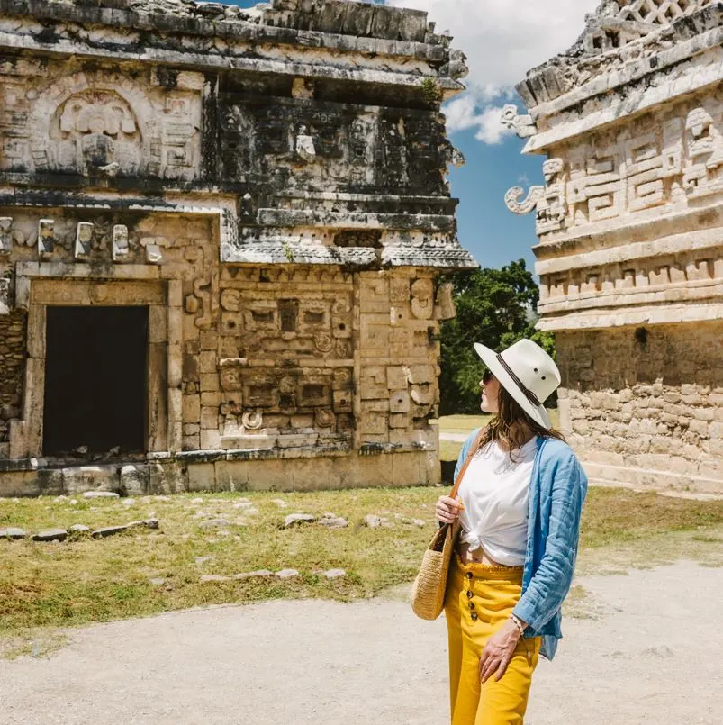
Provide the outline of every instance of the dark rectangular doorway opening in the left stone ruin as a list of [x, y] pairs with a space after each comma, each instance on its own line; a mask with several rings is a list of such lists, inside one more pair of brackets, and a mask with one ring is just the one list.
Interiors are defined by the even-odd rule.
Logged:
[[146, 449], [148, 307], [48, 307], [43, 453]]

